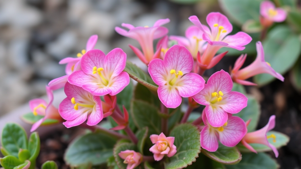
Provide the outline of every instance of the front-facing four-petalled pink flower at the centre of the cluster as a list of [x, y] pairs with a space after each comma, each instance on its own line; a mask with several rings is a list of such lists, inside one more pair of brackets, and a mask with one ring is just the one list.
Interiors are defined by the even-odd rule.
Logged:
[[191, 97], [204, 88], [205, 80], [198, 74], [190, 73], [193, 58], [183, 46], [174, 45], [164, 60], [154, 59], [148, 65], [148, 72], [159, 85], [158, 96], [168, 108], [176, 108], [182, 97]]

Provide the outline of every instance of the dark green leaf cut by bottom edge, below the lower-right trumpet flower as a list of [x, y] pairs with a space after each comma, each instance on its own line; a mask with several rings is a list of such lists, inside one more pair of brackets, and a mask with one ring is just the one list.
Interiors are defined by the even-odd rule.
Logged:
[[240, 163], [235, 165], [225, 165], [227, 169], [277, 169], [279, 165], [274, 159], [265, 153], [244, 153]]

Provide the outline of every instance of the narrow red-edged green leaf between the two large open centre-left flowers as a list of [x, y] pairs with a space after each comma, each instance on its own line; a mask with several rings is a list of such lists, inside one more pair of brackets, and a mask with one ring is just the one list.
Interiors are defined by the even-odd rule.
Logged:
[[140, 69], [135, 64], [127, 61], [126, 68], [124, 68], [125, 72], [129, 74], [129, 76], [138, 81], [139, 83], [143, 84], [145, 87], [151, 89], [152, 91], [157, 91], [158, 87], [151, 79], [151, 76], [147, 75], [142, 69]]

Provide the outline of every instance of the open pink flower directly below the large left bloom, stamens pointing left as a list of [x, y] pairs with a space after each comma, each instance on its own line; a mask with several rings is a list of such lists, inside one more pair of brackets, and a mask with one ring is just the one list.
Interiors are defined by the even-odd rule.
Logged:
[[64, 88], [67, 98], [59, 105], [58, 111], [67, 120], [63, 124], [67, 127], [78, 126], [88, 118], [87, 124], [98, 124], [104, 117], [99, 96], [93, 96], [83, 88], [66, 83]]

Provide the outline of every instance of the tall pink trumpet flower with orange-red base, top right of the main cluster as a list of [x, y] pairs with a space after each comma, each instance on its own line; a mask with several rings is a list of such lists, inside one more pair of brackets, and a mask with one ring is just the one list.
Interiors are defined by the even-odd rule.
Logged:
[[[213, 58], [220, 48], [227, 47], [241, 51], [244, 50], [244, 46], [249, 44], [252, 40], [245, 32], [228, 35], [232, 32], [232, 25], [228, 18], [219, 12], [211, 12], [206, 17], [206, 21], [211, 30], [203, 26], [197, 16], [191, 16], [189, 20], [203, 32], [202, 38], [208, 42], [204, 53], [197, 57], [197, 62], [202, 69], [209, 69], [222, 59], [223, 56], [220, 56], [221, 54], [218, 55], [219, 57], [216, 56], [217, 58]], [[211, 62], [214, 62], [214, 64]], [[209, 66], [210, 64], [211, 66]]]

